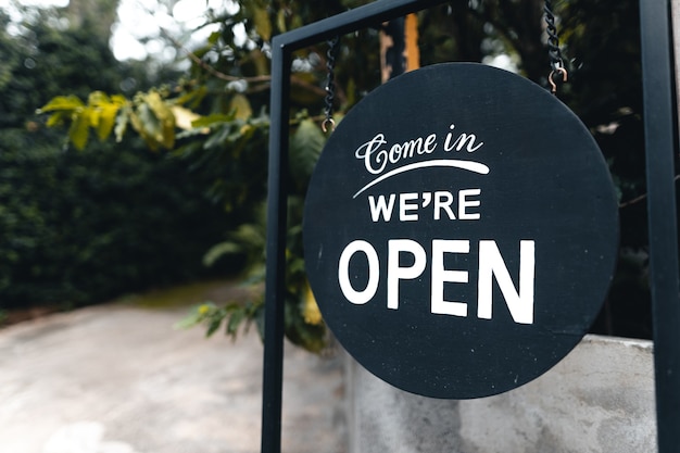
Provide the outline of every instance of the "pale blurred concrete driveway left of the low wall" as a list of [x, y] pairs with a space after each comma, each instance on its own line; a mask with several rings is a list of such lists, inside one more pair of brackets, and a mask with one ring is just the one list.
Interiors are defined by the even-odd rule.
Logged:
[[[260, 451], [262, 344], [116, 303], [0, 330], [2, 453]], [[340, 356], [286, 345], [282, 451], [343, 453]]]

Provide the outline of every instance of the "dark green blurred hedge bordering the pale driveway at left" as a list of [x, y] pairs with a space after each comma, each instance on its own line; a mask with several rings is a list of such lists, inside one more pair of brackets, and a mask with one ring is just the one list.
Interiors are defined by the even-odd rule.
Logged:
[[202, 255], [226, 218], [182, 163], [141, 143], [76, 152], [45, 131], [1, 138], [0, 309], [80, 305], [205, 275]]

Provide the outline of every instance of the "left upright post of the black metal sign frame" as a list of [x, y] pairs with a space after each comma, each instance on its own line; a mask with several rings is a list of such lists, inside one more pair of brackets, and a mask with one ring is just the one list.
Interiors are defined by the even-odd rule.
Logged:
[[272, 41], [262, 453], [281, 451], [290, 53]]

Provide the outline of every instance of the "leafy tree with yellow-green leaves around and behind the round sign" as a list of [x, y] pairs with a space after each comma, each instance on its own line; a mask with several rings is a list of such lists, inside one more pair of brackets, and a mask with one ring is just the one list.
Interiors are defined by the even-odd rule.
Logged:
[[[263, 276], [272, 36], [356, 8], [365, 0], [239, 0], [238, 9], [209, 10], [206, 25], [217, 24], [204, 46], [188, 53], [187, 73], [172, 89], [152, 89], [133, 98], [95, 93], [87, 102], [60, 98], [43, 111], [51, 122], [71, 122], [75, 146], [86, 129], [119, 138], [127, 126], [152, 149], [166, 148], [211, 180], [219, 200], [240, 225], [229, 240], [213, 247], [206, 260], [240, 253], [249, 257], [256, 280]], [[546, 85], [550, 73], [539, 0], [448, 2], [418, 13], [421, 64], [442, 61], [493, 62], [504, 55], [520, 74]], [[234, 12], [236, 11], [236, 12]], [[570, 0], [557, 4], [558, 29], [568, 59], [570, 83], [563, 100], [593, 133], [607, 159], [621, 201], [621, 260], [599, 331], [650, 335], [645, 281], [643, 203], [628, 203], [644, 192], [638, 5], [632, 0]], [[336, 70], [336, 109], [351, 109], [380, 83], [378, 35], [381, 25], [342, 37]], [[294, 54], [291, 77], [291, 180], [288, 235], [287, 334], [312, 350], [320, 348], [323, 324], [313, 313], [300, 243], [301, 206], [306, 181], [325, 136], [319, 131], [325, 96], [326, 46]], [[81, 98], [85, 99], [85, 98]], [[60, 102], [70, 102], [60, 106]], [[116, 112], [118, 126], [111, 128]], [[54, 119], [52, 119], [54, 118]], [[102, 118], [105, 121], [102, 123]], [[74, 126], [76, 125], [76, 126]], [[127, 127], [129, 130], [130, 127]], [[540, 190], [540, 188], [537, 188]], [[194, 323], [209, 332], [228, 319], [227, 331], [242, 319], [259, 319], [261, 302], [227, 311], [201, 307]], [[634, 322], [630, 322], [633, 319]]]

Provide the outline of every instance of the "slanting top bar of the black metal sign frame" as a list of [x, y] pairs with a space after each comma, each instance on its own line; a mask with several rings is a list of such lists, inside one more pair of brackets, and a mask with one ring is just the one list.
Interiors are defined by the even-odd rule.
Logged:
[[382, 22], [402, 17], [416, 11], [425, 10], [444, 0], [379, 0], [354, 10], [295, 28], [272, 39], [273, 47], [287, 48], [289, 51], [303, 49], [338, 35], [353, 33]]

